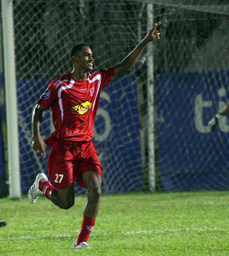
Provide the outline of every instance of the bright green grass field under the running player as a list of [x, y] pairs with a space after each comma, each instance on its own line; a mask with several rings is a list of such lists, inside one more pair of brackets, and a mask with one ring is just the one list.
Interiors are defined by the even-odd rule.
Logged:
[[90, 249], [73, 250], [85, 196], [61, 210], [45, 197], [33, 205], [0, 200], [1, 256], [229, 255], [229, 192], [102, 196]]

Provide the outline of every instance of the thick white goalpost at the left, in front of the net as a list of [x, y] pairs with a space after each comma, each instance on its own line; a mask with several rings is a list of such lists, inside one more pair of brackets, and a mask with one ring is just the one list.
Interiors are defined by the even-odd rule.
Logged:
[[12, 2], [2, 0], [2, 22], [10, 197], [18, 199], [21, 197], [21, 182]]

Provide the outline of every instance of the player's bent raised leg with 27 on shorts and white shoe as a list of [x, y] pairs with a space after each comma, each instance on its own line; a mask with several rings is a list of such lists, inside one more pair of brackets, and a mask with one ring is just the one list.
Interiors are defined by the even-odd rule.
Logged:
[[44, 173], [39, 173], [29, 190], [28, 199], [34, 204], [44, 194], [51, 202], [62, 209], [69, 209], [74, 204], [73, 164], [70, 147], [55, 143], [48, 158], [48, 171], [52, 186]]

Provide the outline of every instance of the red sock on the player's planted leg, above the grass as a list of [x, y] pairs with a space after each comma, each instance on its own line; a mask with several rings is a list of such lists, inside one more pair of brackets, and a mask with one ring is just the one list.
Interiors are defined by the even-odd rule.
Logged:
[[81, 242], [87, 242], [89, 235], [91, 234], [91, 230], [95, 226], [95, 219], [90, 218], [88, 216], [83, 216], [83, 222], [80, 229], [80, 233], [77, 237], [77, 245]]

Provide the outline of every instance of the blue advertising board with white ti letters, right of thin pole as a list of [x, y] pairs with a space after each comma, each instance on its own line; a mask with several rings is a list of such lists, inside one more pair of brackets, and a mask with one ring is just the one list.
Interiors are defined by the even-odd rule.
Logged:
[[208, 121], [225, 106], [229, 71], [160, 74], [158, 143], [164, 191], [229, 189], [229, 123], [210, 132]]

